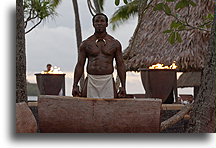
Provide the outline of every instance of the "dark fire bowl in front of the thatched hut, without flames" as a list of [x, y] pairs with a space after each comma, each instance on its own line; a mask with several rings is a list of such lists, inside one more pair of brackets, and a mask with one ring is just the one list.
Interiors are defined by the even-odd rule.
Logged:
[[[173, 94], [173, 91], [175, 99], [177, 98], [177, 71], [175, 69], [141, 68], [139, 70], [147, 98], [160, 98], [164, 103], [170, 97], [170, 94]], [[172, 103], [174, 98], [173, 96], [171, 98]]]

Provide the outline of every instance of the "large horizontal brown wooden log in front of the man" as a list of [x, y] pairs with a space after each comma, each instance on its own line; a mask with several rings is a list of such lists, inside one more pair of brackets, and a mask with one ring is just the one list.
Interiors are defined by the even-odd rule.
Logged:
[[45, 133], [157, 133], [160, 99], [89, 99], [40, 96], [39, 128]]

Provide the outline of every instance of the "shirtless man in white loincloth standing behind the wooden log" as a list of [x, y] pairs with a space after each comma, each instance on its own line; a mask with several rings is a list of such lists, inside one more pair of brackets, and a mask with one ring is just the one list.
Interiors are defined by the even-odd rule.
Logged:
[[[125, 97], [126, 71], [119, 41], [107, 34], [108, 18], [105, 14], [96, 14], [93, 19], [95, 33], [83, 41], [79, 47], [78, 62], [75, 67], [73, 96], [88, 98], [116, 98]], [[87, 79], [82, 92], [79, 92], [78, 82], [83, 74], [85, 60], [87, 63]], [[117, 94], [112, 73], [113, 60], [117, 65], [117, 73], [121, 81], [121, 88]]]

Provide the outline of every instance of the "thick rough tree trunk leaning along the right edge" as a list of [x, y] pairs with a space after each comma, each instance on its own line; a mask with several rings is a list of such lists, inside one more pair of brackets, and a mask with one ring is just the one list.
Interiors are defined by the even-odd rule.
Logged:
[[199, 93], [192, 109], [188, 132], [216, 131], [216, 7], [214, 16], [208, 55], [202, 72]]

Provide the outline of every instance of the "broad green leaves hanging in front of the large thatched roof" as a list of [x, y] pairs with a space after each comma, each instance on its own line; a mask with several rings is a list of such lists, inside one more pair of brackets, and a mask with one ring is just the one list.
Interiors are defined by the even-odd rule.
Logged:
[[[171, 2], [176, 2], [174, 6], [174, 10], [170, 8], [168, 3]], [[169, 34], [168, 41], [171, 44], [174, 44], [176, 42], [182, 42], [181, 35], [179, 32], [181, 31], [187, 31], [187, 30], [192, 30], [192, 29], [198, 29], [198, 30], [203, 30], [206, 32], [209, 32], [207, 30], [208, 28], [211, 27], [211, 24], [213, 22], [213, 14], [208, 14], [202, 24], [198, 24], [197, 26], [191, 25], [188, 20], [189, 20], [189, 10], [191, 7], [197, 6], [196, 3], [193, 0], [164, 0], [161, 3], [157, 3], [153, 10], [154, 11], [162, 11], [166, 15], [174, 17], [175, 20], [171, 22], [170, 28], [168, 30], [165, 30], [164, 33]], [[177, 12], [184, 9], [184, 11], [187, 12], [185, 16], [181, 16]]]

